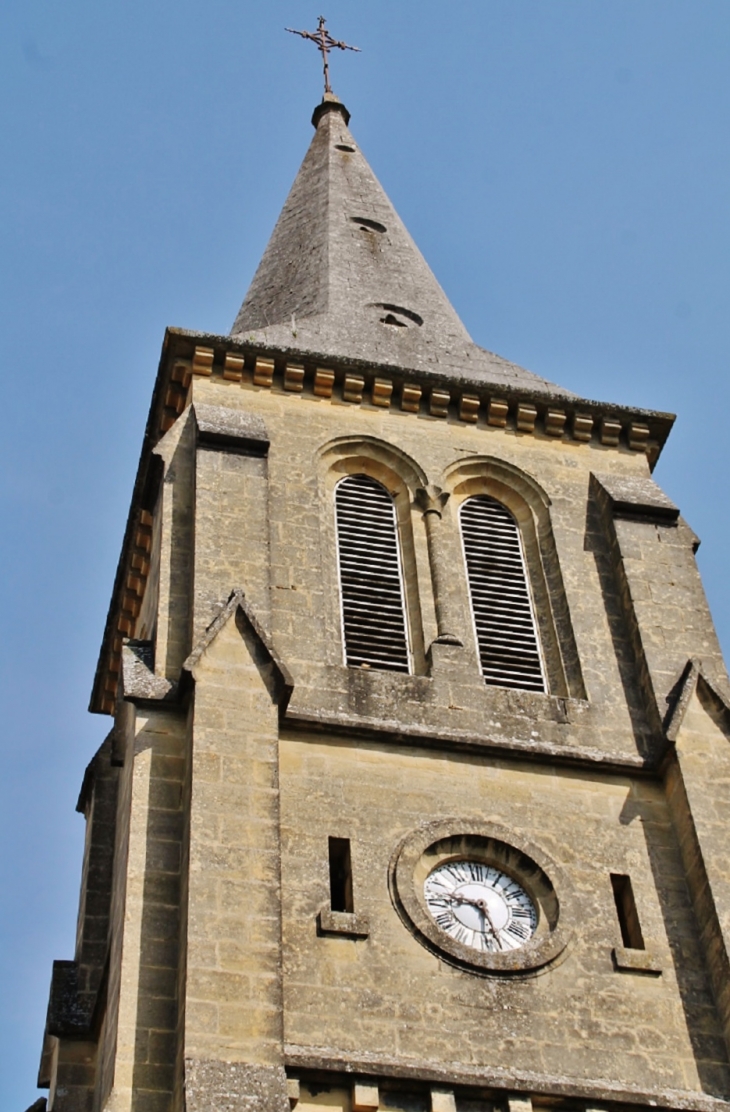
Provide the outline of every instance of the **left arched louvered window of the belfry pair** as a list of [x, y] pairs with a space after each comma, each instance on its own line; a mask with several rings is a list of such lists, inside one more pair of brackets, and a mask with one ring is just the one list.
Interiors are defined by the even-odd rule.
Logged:
[[337, 484], [335, 509], [346, 663], [410, 672], [393, 498], [367, 475], [351, 475]]

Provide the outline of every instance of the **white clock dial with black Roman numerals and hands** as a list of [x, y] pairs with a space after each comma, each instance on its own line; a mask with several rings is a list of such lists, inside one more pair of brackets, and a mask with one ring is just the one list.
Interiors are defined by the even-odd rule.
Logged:
[[522, 885], [481, 861], [444, 862], [428, 874], [423, 892], [441, 930], [473, 950], [517, 950], [537, 926]]

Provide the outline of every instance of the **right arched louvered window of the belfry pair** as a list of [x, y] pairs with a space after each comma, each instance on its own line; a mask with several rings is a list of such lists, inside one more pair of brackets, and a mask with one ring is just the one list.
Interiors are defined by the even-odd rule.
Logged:
[[544, 692], [517, 523], [502, 503], [485, 494], [467, 498], [460, 517], [482, 675], [499, 687]]

